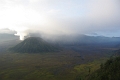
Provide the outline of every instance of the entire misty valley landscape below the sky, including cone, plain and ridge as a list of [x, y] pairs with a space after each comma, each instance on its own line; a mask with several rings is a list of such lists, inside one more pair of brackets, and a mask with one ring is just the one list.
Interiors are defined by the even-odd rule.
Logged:
[[32, 36], [20, 41], [0, 34], [0, 38], [0, 80], [120, 79], [119, 37]]

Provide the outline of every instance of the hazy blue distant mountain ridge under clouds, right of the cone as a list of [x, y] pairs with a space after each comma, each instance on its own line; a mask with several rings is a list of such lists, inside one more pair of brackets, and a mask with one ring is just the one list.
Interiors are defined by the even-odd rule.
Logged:
[[[47, 39], [46, 39], [47, 40]], [[87, 35], [63, 35], [50, 38], [50, 42], [63, 45], [79, 45], [79, 44], [111, 44], [120, 43], [120, 37], [104, 37], [104, 36], [87, 36]]]

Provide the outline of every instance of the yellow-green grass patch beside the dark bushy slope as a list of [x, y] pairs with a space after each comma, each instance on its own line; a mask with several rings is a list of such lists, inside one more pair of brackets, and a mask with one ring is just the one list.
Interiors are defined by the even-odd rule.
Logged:
[[75, 73], [78, 74], [78, 80], [85, 80], [91, 73], [98, 70], [100, 65], [104, 63], [108, 58], [101, 58], [86, 64], [77, 65], [74, 67]]

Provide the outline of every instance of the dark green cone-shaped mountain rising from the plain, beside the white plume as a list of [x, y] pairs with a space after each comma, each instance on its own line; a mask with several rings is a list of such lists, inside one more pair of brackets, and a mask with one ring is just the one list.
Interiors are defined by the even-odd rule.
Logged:
[[18, 53], [40, 53], [58, 50], [59, 49], [56, 46], [47, 43], [45, 40], [39, 37], [29, 37], [16, 46], [10, 48], [10, 51]]

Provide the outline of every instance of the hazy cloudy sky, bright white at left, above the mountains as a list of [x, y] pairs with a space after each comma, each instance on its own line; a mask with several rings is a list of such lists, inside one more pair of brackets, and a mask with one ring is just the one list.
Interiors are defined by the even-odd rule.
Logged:
[[[120, 36], [120, 0], [0, 0], [0, 31]], [[8, 31], [11, 32], [11, 31]]]

